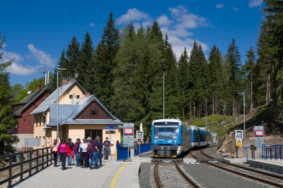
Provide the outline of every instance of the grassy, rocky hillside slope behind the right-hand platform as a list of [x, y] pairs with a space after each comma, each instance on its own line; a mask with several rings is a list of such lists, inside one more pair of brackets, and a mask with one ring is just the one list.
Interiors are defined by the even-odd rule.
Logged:
[[[255, 144], [254, 126], [264, 126], [265, 144], [283, 143], [283, 121], [277, 120], [271, 105], [261, 106], [253, 113], [246, 114], [246, 145]], [[195, 126], [205, 126], [205, 118], [187, 121]], [[217, 155], [236, 157], [235, 130], [243, 130], [243, 115], [238, 117], [213, 115], [207, 116], [207, 126], [211, 132], [217, 133]], [[239, 147], [238, 157], [243, 157], [243, 147]]]

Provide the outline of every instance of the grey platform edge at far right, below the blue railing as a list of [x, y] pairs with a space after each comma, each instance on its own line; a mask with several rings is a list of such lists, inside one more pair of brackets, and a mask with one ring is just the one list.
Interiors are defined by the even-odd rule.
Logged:
[[250, 166], [283, 174], [283, 160], [249, 160]]

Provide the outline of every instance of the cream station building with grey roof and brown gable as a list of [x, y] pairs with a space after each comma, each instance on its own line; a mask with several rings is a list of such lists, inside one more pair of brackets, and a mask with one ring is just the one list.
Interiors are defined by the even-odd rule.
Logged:
[[[116, 140], [120, 140], [119, 125], [123, 122], [113, 116], [93, 94], [86, 92], [75, 80], [62, 82], [62, 87], [55, 90], [45, 101], [30, 113], [35, 118], [34, 138], [41, 140], [42, 147], [48, 147], [57, 138], [57, 96], [59, 140], [71, 138], [91, 137], [93, 140], [100, 136], [103, 142], [105, 137], [110, 138], [111, 153], [115, 153]], [[57, 93], [59, 92], [59, 95]], [[45, 122], [40, 123], [40, 119]], [[105, 127], [115, 127], [110, 130]]]

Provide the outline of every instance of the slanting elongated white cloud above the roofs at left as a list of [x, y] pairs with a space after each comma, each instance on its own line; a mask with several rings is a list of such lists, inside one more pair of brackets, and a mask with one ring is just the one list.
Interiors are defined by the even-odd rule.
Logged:
[[33, 44], [28, 45], [28, 49], [33, 59], [39, 61], [40, 65], [46, 65], [47, 67], [54, 67], [56, 65], [56, 59], [53, 59], [42, 50], [37, 50]]

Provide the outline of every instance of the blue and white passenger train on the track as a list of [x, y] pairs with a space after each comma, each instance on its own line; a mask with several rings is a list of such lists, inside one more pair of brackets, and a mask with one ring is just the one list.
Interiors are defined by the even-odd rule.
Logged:
[[207, 128], [189, 126], [180, 119], [158, 119], [151, 124], [154, 157], [177, 157], [194, 147], [209, 145]]

